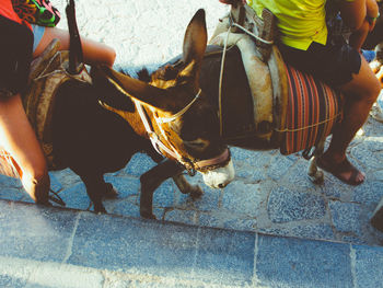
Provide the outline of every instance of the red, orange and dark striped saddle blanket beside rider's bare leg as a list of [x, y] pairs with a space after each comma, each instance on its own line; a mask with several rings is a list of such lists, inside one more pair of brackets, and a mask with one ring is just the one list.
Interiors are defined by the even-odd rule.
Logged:
[[316, 145], [340, 118], [340, 94], [286, 65], [289, 81], [286, 128], [280, 152], [290, 154]]

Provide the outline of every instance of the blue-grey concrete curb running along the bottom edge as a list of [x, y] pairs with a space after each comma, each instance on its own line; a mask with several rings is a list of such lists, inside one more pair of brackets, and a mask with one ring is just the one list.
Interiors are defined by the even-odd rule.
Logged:
[[0, 200], [0, 287], [382, 287], [383, 247]]

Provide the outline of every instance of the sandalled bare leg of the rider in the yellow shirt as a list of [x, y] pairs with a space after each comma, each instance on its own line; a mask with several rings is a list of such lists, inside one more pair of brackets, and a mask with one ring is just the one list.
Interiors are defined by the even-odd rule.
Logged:
[[362, 58], [359, 73], [353, 74], [353, 79], [340, 89], [346, 95], [344, 120], [335, 129], [332, 142], [318, 165], [348, 184], [359, 185], [364, 181], [364, 174], [347, 161], [346, 149], [364, 124], [381, 84]]

